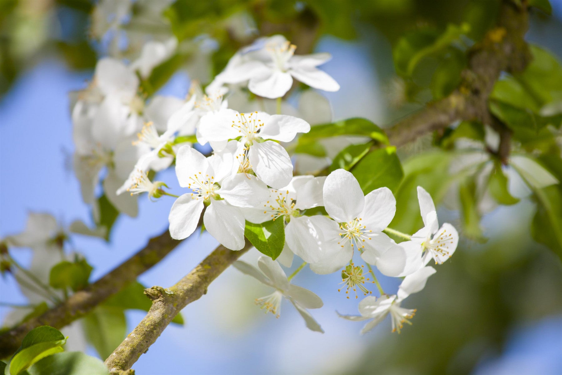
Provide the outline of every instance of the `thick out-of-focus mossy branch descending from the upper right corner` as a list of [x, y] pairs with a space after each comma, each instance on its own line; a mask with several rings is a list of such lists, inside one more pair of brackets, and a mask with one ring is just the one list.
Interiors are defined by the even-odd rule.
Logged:
[[[489, 30], [482, 42], [469, 52], [468, 68], [463, 71], [459, 88], [388, 128], [390, 143], [403, 146], [433, 130], [444, 129], [457, 120], [479, 120], [494, 126], [488, 111], [488, 98], [502, 71], [521, 71], [531, 60], [524, 40], [527, 28], [526, 6], [519, 8], [504, 0], [497, 26]], [[499, 151], [505, 154], [506, 150], [509, 152], [509, 147], [504, 146]], [[507, 157], [499, 156], [501, 159]]]

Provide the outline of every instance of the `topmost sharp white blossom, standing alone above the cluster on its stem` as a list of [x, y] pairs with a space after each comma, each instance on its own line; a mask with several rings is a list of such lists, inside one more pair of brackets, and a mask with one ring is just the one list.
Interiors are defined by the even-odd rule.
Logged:
[[295, 56], [295, 49], [283, 35], [259, 39], [234, 55], [216, 80], [228, 84], [248, 81], [248, 89], [265, 98], [284, 96], [293, 78], [320, 90], [339, 90], [339, 84], [317, 68], [330, 60], [329, 53]]

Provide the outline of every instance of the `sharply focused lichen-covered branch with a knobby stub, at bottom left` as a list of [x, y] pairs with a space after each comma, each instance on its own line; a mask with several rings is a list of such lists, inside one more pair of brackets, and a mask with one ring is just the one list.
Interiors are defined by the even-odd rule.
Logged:
[[164, 289], [152, 287], [144, 293], [152, 300], [152, 307], [133, 332], [106, 359], [112, 374], [133, 373], [129, 369], [154, 344], [172, 319], [188, 304], [207, 293], [209, 284], [251, 247], [246, 241], [244, 249], [232, 251], [220, 245], [174, 286]]

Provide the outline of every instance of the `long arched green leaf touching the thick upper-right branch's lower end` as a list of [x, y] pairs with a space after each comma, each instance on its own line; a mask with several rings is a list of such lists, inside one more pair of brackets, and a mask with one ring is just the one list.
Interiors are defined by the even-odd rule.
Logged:
[[[352, 118], [336, 123], [316, 125], [310, 128], [310, 132], [302, 134], [298, 138], [297, 152], [311, 153], [316, 155], [319, 147], [314, 143], [321, 138], [338, 137], [339, 135], [365, 135], [384, 144], [388, 144], [386, 134], [372, 121], [362, 118]], [[310, 150], [309, 150], [310, 149]], [[324, 156], [317, 155], [317, 156]]]

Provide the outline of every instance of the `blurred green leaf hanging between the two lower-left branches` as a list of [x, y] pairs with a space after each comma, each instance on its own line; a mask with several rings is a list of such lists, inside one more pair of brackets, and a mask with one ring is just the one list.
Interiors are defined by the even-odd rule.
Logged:
[[98, 306], [82, 322], [88, 342], [103, 359], [110, 356], [125, 338], [127, 324], [122, 308]]

